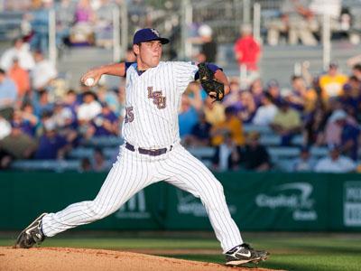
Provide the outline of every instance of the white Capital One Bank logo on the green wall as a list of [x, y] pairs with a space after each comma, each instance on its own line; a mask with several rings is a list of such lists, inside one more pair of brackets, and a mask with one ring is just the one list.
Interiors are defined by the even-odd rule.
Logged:
[[274, 186], [270, 192], [257, 194], [255, 204], [271, 210], [289, 210], [296, 221], [317, 220], [312, 197], [313, 186], [309, 182], [289, 182]]

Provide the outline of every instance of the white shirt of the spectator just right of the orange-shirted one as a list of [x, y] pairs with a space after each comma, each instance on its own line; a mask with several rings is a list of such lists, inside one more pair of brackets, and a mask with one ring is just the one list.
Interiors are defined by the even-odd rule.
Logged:
[[58, 72], [54, 65], [51, 64], [51, 61], [39, 61], [32, 70], [32, 87], [34, 89], [42, 89], [51, 79], [55, 79], [57, 75]]

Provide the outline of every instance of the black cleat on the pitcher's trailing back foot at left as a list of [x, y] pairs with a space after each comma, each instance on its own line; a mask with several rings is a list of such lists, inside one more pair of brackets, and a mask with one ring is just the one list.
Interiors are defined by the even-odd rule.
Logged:
[[42, 243], [45, 239], [45, 235], [42, 233], [42, 218], [45, 215], [47, 215], [46, 212], [23, 229], [16, 239], [14, 248], [32, 248], [35, 244]]

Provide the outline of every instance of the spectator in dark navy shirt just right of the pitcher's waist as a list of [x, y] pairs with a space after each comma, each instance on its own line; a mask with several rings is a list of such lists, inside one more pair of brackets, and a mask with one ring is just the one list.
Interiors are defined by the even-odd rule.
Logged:
[[207, 122], [206, 115], [199, 112], [199, 121], [191, 128], [190, 135], [184, 138], [186, 146], [206, 146], [210, 145], [211, 125]]

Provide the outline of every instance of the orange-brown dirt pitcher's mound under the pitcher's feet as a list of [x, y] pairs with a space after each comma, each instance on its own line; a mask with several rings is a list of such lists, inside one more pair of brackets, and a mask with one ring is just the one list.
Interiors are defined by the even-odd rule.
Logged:
[[[249, 270], [218, 264], [157, 257], [132, 252], [86, 248], [0, 247], [0, 270], [91, 271], [91, 270]], [[267, 270], [252, 268], [253, 271]]]

